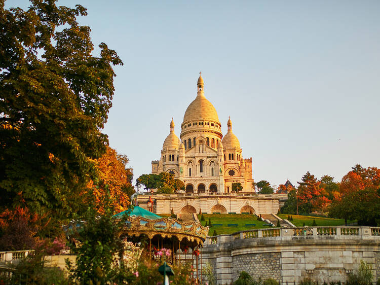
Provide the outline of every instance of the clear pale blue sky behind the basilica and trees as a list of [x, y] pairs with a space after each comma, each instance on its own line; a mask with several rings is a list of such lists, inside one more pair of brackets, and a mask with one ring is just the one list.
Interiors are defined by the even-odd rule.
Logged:
[[124, 61], [104, 132], [135, 178], [160, 158], [171, 117], [179, 136], [200, 70], [256, 182], [380, 167], [380, 1], [58, 3], [88, 8], [93, 43]]

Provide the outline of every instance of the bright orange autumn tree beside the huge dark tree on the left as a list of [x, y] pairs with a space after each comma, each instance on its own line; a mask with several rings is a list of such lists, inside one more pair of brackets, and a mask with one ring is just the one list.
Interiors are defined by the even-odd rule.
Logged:
[[134, 192], [133, 170], [128, 168], [127, 164], [128, 157], [118, 154], [110, 147], [107, 147], [105, 154], [95, 161], [98, 180], [96, 183], [91, 181], [88, 189], [93, 194], [95, 207], [100, 213], [104, 212], [106, 191], [109, 193], [116, 212], [125, 210], [130, 204], [130, 195]]

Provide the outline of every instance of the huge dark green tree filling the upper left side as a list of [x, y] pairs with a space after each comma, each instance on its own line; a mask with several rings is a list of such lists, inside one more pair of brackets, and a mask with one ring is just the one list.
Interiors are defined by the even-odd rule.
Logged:
[[0, 2], [0, 208], [26, 205], [60, 217], [81, 210], [78, 193], [96, 180], [94, 159], [114, 92], [111, 65], [123, 64], [101, 43], [93, 56], [84, 7], [32, 1], [28, 10]]

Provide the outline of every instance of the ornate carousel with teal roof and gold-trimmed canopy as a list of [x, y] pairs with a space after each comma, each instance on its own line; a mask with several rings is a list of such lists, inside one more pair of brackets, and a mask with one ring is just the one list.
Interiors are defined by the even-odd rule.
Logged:
[[[198, 264], [199, 259], [202, 259], [203, 242], [206, 240], [209, 227], [203, 227], [199, 221], [186, 223], [175, 218], [161, 217], [142, 207], [133, 206], [136, 194], [141, 192], [132, 195], [131, 205], [127, 210], [113, 216], [115, 219], [126, 221], [119, 233], [126, 245], [125, 259], [133, 266], [143, 251], [146, 251], [151, 259], [159, 259], [164, 253], [169, 263], [194, 264], [194, 278], [201, 281], [202, 272], [199, 272]], [[67, 238], [75, 241], [75, 232], [79, 231], [84, 223], [86, 221], [72, 220], [68, 225], [62, 226]]]

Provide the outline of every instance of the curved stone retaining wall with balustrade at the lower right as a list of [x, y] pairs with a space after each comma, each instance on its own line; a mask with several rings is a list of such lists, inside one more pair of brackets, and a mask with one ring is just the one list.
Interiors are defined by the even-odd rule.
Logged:
[[[202, 266], [210, 261], [218, 284], [231, 284], [241, 271], [280, 284], [309, 277], [319, 283], [346, 281], [360, 260], [380, 278], [380, 228], [272, 228], [207, 238]], [[205, 276], [204, 276], [205, 278]]]

